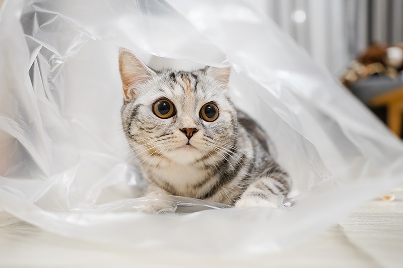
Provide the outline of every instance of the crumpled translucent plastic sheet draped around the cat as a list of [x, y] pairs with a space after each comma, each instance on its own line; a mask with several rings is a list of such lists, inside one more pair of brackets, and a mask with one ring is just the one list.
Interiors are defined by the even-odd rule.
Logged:
[[[232, 66], [233, 101], [293, 178], [288, 203], [142, 197], [120, 125], [119, 47], [154, 68]], [[6, 0], [0, 55], [0, 209], [51, 232], [251, 256], [295, 245], [403, 181], [402, 143], [246, 1]], [[159, 215], [143, 212], [155, 204]]]

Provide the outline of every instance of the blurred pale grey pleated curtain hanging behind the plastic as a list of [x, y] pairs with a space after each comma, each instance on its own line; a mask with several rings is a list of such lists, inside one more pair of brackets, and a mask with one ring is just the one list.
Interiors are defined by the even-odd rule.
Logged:
[[334, 75], [340, 75], [357, 54], [374, 42], [403, 41], [403, 0], [255, 0], [255, 3]]

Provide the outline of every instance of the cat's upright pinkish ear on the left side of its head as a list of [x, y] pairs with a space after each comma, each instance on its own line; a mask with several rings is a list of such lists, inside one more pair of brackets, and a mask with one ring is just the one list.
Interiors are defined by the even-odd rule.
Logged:
[[135, 98], [138, 85], [151, 79], [155, 74], [152, 69], [127, 49], [119, 50], [119, 72], [126, 101]]

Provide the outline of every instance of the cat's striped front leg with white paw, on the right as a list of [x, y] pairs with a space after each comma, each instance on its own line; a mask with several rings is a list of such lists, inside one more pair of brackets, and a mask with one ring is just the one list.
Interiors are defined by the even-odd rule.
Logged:
[[273, 177], [261, 177], [250, 184], [235, 207], [272, 207], [283, 205], [289, 186], [286, 181], [279, 182]]

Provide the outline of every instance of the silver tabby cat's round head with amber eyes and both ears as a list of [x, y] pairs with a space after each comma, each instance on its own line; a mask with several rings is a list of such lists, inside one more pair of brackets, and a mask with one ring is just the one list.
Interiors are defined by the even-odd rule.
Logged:
[[224, 157], [237, 125], [228, 92], [229, 67], [155, 71], [120, 50], [119, 71], [122, 125], [140, 159], [152, 161], [158, 155], [188, 164]]

